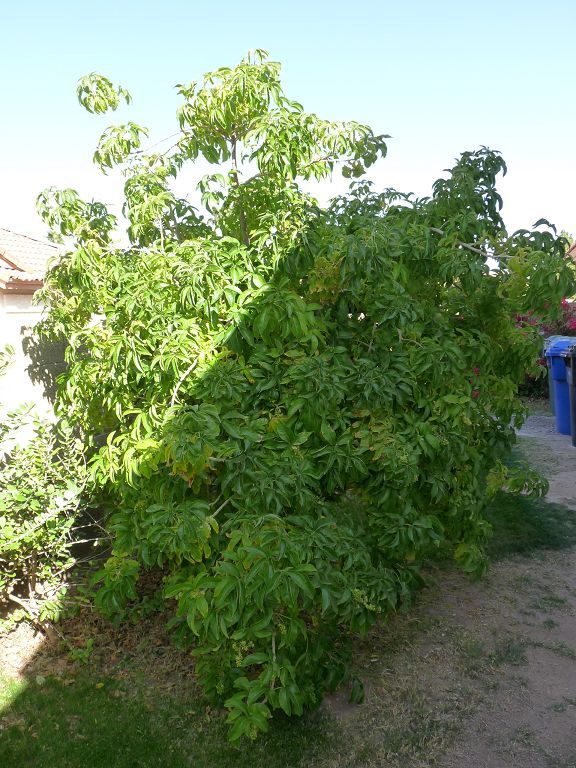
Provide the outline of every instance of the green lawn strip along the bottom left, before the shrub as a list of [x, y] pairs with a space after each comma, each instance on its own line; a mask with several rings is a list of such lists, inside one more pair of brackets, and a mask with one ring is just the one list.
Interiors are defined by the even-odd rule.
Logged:
[[338, 744], [331, 721], [312, 713], [276, 718], [269, 734], [237, 749], [223, 714], [196, 696], [146, 695], [89, 672], [67, 682], [0, 680], [2, 768], [288, 768]]

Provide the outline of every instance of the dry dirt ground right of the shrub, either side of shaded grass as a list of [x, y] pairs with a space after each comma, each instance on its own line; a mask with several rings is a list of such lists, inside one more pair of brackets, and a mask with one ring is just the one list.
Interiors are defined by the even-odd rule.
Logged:
[[[576, 448], [551, 416], [528, 419], [519, 452], [576, 510]], [[576, 768], [576, 550], [508, 558], [477, 583], [440, 571], [382, 632], [364, 707], [328, 703], [350, 743], [331, 768]]]

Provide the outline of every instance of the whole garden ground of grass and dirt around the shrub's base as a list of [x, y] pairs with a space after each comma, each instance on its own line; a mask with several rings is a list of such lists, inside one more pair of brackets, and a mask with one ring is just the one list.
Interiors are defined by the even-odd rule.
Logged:
[[486, 578], [431, 568], [416, 607], [357, 644], [364, 703], [343, 691], [236, 749], [162, 617], [85, 612], [66, 646], [0, 637], [0, 765], [576, 768], [576, 448], [540, 411], [519, 452], [546, 502], [499, 498]]

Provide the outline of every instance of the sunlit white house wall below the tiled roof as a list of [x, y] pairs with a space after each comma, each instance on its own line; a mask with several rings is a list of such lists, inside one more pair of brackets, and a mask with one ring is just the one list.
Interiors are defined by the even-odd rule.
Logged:
[[[36, 374], [28, 370], [32, 364], [26, 354], [26, 332], [42, 316], [42, 307], [32, 303], [31, 294], [7, 293], [0, 291], [0, 347], [10, 344], [14, 347], [14, 363], [0, 379], [0, 407], [14, 408], [21, 403], [33, 402], [43, 413], [50, 412], [50, 403], [45, 397], [46, 382], [42, 381], [39, 370], [42, 366], [33, 366]], [[61, 367], [61, 357], [48, 361], [48, 368]], [[45, 378], [45, 377], [44, 377]], [[33, 379], [35, 379], [33, 381]]]

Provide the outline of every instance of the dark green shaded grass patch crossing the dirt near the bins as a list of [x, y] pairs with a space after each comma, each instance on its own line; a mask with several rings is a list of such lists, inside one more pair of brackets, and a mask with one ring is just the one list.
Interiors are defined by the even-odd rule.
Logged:
[[492, 559], [576, 546], [576, 512], [561, 504], [500, 493], [487, 511]]

